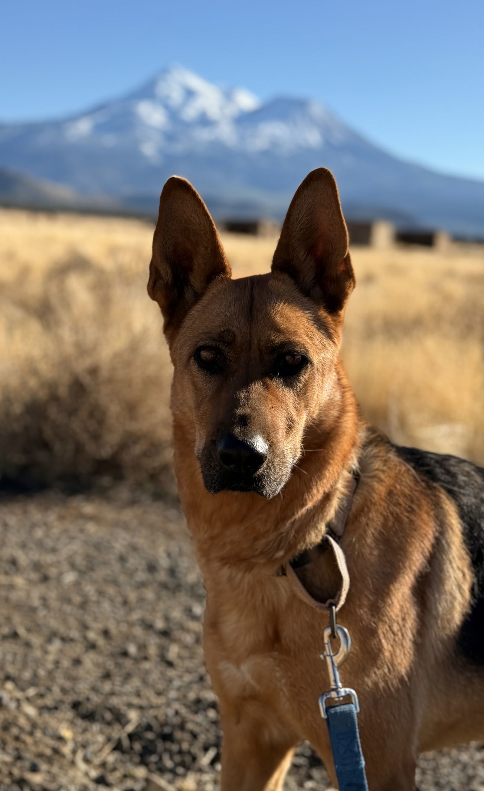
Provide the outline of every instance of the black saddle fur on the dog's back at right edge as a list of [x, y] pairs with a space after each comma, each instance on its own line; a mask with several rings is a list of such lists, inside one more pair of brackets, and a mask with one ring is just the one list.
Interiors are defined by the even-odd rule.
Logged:
[[457, 456], [417, 448], [395, 450], [418, 475], [441, 486], [456, 503], [474, 569], [473, 604], [458, 645], [467, 660], [484, 666], [484, 469]]

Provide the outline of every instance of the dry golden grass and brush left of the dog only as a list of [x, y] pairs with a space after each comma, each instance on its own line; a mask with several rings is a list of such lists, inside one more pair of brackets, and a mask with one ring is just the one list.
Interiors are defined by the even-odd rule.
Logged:
[[130, 479], [172, 492], [170, 363], [146, 295], [151, 229], [28, 219], [1, 218], [4, 482]]

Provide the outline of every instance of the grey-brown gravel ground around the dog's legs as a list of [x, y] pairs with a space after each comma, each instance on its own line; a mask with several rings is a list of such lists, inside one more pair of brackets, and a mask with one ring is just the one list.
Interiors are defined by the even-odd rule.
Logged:
[[[203, 586], [176, 506], [38, 494], [3, 500], [0, 530], [0, 789], [217, 789]], [[422, 756], [418, 785], [484, 791], [484, 749]], [[285, 788], [329, 788], [307, 745]]]

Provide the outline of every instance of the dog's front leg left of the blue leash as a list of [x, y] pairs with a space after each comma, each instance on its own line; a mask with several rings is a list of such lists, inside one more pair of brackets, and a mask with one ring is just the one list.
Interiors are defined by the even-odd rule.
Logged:
[[277, 721], [221, 711], [221, 791], [279, 791], [297, 744]]

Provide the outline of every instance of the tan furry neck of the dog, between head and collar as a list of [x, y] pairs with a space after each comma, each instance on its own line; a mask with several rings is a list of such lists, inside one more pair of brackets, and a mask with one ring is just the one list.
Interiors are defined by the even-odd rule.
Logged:
[[186, 415], [174, 414], [176, 477], [202, 568], [221, 563], [271, 573], [320, 541], [357, 466], [365, 426], [342, 366], [338, 399], [333, 424], [324, 430], [312, 424], [288, 483], [270, 500], [252, 493], [209, 494], [195, 456], [195, 427]]

